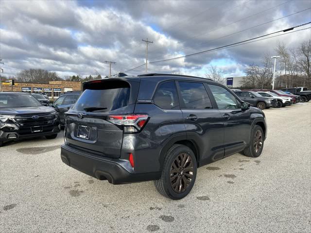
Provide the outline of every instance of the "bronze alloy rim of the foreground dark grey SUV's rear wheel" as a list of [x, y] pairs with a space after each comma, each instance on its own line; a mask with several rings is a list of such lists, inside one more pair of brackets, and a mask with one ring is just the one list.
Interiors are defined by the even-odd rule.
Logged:
[[170, 181], [176, 193], [185, 192], [193, 177], [193, 161], [189, 154], [181, 153], [171, 166]]

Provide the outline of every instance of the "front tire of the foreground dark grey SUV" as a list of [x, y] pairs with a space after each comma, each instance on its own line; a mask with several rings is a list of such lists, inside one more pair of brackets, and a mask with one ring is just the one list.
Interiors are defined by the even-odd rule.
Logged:
[[[259, 136], [259, 134], [257, 133], [261, 135], [261, 147], [258, 147], [260, 145], [259, 142], [256, 142], [255, 144], [255, 140], [256, 140], [255, 137]], [[263, 143], [264, 143], [264, 134], [263, 134], [262, 128], [259, 125], [256, 125], [251, 133], [251, 140], [250, 140], [249, 147], [243, 150], [244, 155], [247, 157], [252, 157], [252, 158], [259, 157], [263, 149]]]

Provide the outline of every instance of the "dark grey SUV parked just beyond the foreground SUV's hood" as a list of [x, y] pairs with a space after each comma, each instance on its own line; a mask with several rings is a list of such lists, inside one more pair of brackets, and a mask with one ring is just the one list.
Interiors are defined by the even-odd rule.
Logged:
[[277, 100], [275, 98], [262, 97], [255, 91], [234, 91], [234, 93], [240, 97], [241, 100], [261, 110], [277, 106]]

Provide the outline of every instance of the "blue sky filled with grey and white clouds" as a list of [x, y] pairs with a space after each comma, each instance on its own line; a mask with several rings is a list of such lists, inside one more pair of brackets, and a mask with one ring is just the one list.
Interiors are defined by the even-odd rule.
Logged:
[[[144, 64], [142, 39], [154, 42], [148, 50], [153, 62], [309, 22], [311, 10], [305, 9], [310, 7], [310, 0], [1, 0], [0, 58], [6, 76], [29, 68], [56, 71], [61, 77], [107, 75], [104, 61], [116, 62], [113, 73]], [[274, 53], [278, 41], [295, 47], [310, 37], [310, 29], [290, 33], [149, 65], [148, 72], [204, 77], [207, 67], [215, 65], [226, 77], [240, 76], [265, 52]], [[142, 73], [145, 67], [128, 72]]]

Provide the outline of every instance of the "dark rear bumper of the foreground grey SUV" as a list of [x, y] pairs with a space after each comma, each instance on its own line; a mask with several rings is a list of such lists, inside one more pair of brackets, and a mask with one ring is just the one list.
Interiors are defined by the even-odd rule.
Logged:
[[151, 181], [161, 176], [161, 172], [135, 173], [128, 161], [86, 153], [66, 144], [61, 146], [61, 159], [72, 168], [112, 184]]

